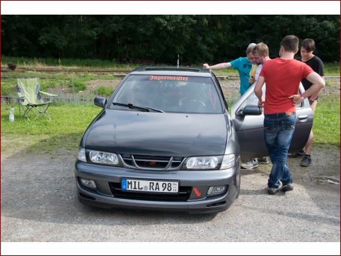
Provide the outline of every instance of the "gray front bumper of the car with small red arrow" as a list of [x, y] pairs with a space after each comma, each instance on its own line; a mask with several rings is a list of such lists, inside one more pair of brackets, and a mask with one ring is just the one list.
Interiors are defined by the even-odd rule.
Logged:
[[[240, 175], [240, 160], [228, 170], [133, 170], [129, 168], [101, 166], [76, 161], [75, 179], [79, 202], [103, 208], [143, 209], [153, 211], [184, 211], [188, 213], [212, 213], [225, 211], [235, 200]], [[92, 179], [97, 186], [90, 189], [79, 182], [79, 177]], [[120, 184], [122, 177], [131, 179], [177, 180], [188, 190], [185, 200], [130, 197], [129, 192], [118, 195], [113, 184]], [[219, 195], [207, 196], [210, 186], [227, 185]], [[196, 191], [194, 190], [196, 188]], [[198, 193], [199, 192], [199, 193]], [[134, 193], [134, 192], [133, 192]]]

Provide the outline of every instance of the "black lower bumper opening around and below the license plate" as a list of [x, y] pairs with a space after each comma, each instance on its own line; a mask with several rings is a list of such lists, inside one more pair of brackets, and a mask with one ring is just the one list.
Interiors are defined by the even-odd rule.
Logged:
[[191, 186], [180, 186], [179, 193], [163, 194], [163, 193], [139, 193], [122, 191], [120, 183], [109, 183], [111, 193], [115, 198], [130, 199], [130, 200], [146, 200], [146, 201], [163, 201], [163, 202], [185, 202], [191, 195]]

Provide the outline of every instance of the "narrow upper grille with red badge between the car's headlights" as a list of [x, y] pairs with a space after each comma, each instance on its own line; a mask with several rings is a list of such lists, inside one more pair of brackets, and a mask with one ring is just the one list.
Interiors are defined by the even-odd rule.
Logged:
[[127, 168], [142, 170], [179, 170], [183, 157], [157, 157], [138, 154], [120, 155], [123, 165]]

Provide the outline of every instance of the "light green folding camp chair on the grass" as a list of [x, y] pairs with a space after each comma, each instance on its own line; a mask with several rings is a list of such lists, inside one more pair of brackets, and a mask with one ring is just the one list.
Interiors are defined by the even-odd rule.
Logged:
[[[42, 98], [40, 93], [47, 95], [47, 98]], [[17, 95], [19, 102], [19, 116], [26, 116], [29, 119], [29, 112], [35, 114], [35, 119], [40, 115], [44, 115], [47, 119], [51, 119], [49, 117], [49, 113], [47, 113], [47, 109], [49, 108], [49, 104], [52, 103], [53, 97], [57, 95], [51, 93], [45, 93], [40, 90], [40, 79], [32, 78], [32, 79], [17, 79]], [[47, 100], [48, 99], [48, 100]], [[24, 111], [24, 114], [21, 115], [21, 109]]]

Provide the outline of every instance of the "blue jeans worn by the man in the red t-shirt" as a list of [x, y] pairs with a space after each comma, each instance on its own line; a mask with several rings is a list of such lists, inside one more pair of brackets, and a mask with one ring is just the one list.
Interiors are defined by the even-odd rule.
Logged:
[[278, 189], [279, 181], [283, 184], [292, 182], [287, 168], [287, 151], [292, 141], [295, 124], [295, 112], [292, 112], [292, 115], [285, 115], [285, 113], [264, 115], [264, 138], [272, 162], [268, 180], [270, 188]]

